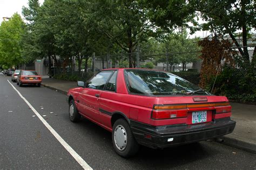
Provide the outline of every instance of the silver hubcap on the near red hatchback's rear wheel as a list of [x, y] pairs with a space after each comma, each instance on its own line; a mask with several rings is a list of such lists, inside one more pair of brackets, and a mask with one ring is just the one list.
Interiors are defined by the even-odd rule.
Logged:
[[116, 126], [116, 129], [114, 129], [114, 144], [120, 151], [123, 151], [126, 148], [127, 134], [122, 125], [118, 125]]

